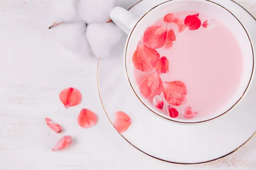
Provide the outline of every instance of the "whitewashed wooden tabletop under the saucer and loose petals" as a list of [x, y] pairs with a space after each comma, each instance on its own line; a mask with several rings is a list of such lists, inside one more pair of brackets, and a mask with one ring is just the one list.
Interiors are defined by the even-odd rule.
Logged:
[[[134, 0], [131, 0], [134, 2]], [[256, 0], [237, 0], [256, 16]], [[153, 159], [125, 142], [108, 121], [97, 89], [97, 59], [81, 58], [52, 40], [52, 0], [0, 0], [0, 170], [242, 170], [256, 169], [256, 139], [207, 164], [179, 165]], [[66, 110], [58, 99], [74, 86], [81, 105]], [[78, 126], [81, 108], [99, 116], [91, 129]], [[45, 124], [49, 117], [64, 133]], [[71, 135], [74, 144], [52, 152]]]

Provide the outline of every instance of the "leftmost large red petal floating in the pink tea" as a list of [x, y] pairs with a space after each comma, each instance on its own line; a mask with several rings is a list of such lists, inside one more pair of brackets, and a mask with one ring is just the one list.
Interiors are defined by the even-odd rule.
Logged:
[[143, 43], [139, 42], [136, 50], [134, 51], [132, 61], [134, 67], [140, 71], [151, 71], [157, 64], [160, 55], [151, 48], [146, 47]]

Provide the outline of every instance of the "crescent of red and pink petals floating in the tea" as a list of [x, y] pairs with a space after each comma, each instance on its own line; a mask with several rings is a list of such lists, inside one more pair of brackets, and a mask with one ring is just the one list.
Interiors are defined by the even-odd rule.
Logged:
[[[157, 49], [168, 50], [174, 45], [176, 40], [175, 33], [169, 28], [170, 23], [177, 24], [179, 33], [189, 30], [198, 30], [200, 27], [212, 29], [215, 27], [214, 20], [201, 22], [199, 13], [188, 15], [184, 19], [179, 18], [175, 13], [166, 14], [163, 18], [164, 24], [154, 25], [146, 28], [143, 37], [137, 44], [133, 53], [132, 61], [134, 68], [148, 72], [138, 82], [140, 94], [144, 99], [153, 102], [157, 109], [162, 110], [165, 100], [167, 102], [167, 113], [171, 118], [179, 116], [175, 107], [181, 106], [186, 102], [187, 88], [182, 81], [163, 82], [160, 74], [169, 73], [169, 60], [165, 56], [160, 56]], [[163, 94], [161, 97], [161, 94]], [[186, 107], [183, 116], [192, 119], [198, 115], [191, 107]]]

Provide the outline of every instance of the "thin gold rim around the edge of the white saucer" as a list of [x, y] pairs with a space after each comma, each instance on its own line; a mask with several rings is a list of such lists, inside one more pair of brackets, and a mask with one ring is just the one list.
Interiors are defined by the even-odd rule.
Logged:
[[[143, 1], [143, 0], [140, 0], [139, 2], [137, 2], [136, 4], [134, 4], [133, 6], [131, 6], [131, 8], [132, 7], [134, 7], [135, 5], [137, 5], [138, 3], [140, 3], [141, 1]], [[208, 0], [209, 1], [209, 0]], [[231, 0], [231, 1], [233, 1], [233, 0]], [[234, 3], [236, 3], [235, 1], [233, 1]], [[239, 3], [236, 3], [237, 5], [239, 5]], [[241, 5], [239, 5], [241, 8], [243, 8], [245, 11], [247, 11], [244, 7], [242, 7]], [[131, 9], [131, 8], [129, 8], [129, 9]], [[128, 10], [129, 10], [128, 9]], [[230, 12], [231, 13], [231, 12]], [[247, 13], [248, 14], [250, 14], [250, 12], [248, 12], [247, 11]], [[232, 14], [232, 13], [231, 13]], [[252, 14], [250, 14], [250, 16], [252, 16], [253, 17], [253, 15]], [[254, 20], [256, 20], [254, 17], [253, 17], [253, 19]], [[240, 21], [239, 21], [240, 22]], [[241, 22], [240, 22], [241, 23]], [[242, 24], [241, 24], [242, 25]], [[243, 25], [242, 25], [243, 26]], [[243, 26], [244, 27], [244, 26]], [[246, 33], [247, 33], [247, 31], [246, 31]], [[248, 35], [248, 34], [247, 34]], [[249, 39], [250, 40], [250, 39]], [[250, 41], [251, 42], [251, 41]], [[251, 45], [252, 45], [252, 43], [251, 43]], [[98, 67], [97, 67], [97, 85], [98, 85], [98, 92], [99, 92], [99, 98], [100, 98], [100, 102], [101, 102], [101, 104], [102, 104], [102, 107], [103, 107], [103, 109], [104, 109], [104, 111], [105, 111], [105, 113], [106, 113], [106, 115], [107, 115], [107, 117], [108, 117], [108, 119], [109, 119], [109, 121], [111, 122], [111, 124], [113, 125], [113, 122], [111, 121], [111, 119], [110, 119], [110, 117], [109, 117], [109, 115], [108, 115], [108, 113], [107, 113], [107, 111], [106, 111], [106, 108], [105, 108], [105, 106], [104, 106], [104, 104], [103, 104], [103, 101], [102, 101], [102, 96], [101, 96], [101, 94], [100, 94], [100, 88], [99, 88], [99, 62], [100, 62], [100, 59], [98, 60]], [[249, 82], [249, 84], [250, 84], [250, 82]], [[248, 88], [248, 87], [247, 87]], [[113, 127], [114, 127], [114, 125], [113, 125]], [[118, 132], [119, 133], [119, 132]], [[119, 135], [120, 136], [122, 136], [122, 138], [123, 139], [125, 139], [125, 141], [127, 141], [129, 144], [131, 144], [133, 147], [135, 147], [137, 150], [140, 150], [142, 153], [145, 153], [146, 155], [148, 155], [148, 156], [150, 156], [150, 157], [152, 157], [152, 158], [155, 158], [155, 159], [158, 159], [158, 160], [160, 160], [160, 161], [165, 161], [165, 162], [169, 162], [169, 163], [173, 163], [173, 164], [203, 164], [203, 163], [208, 163], [208, 162], [211, 162], [211, 161], [216, 161], [216, 160], [218, 160], [218, 159], [221, 159], [221, 158], [224, 158], [224, 157], [226, 157], [226, 156], [229, 156], [230, 154], [232, 154], [232, 153], [234, 153], [234, 152], [236, 152], [237, 150], [239, 150], [242, 146], [244, 146], [244, 144], [246, 144], [247, 142], [249, 142], [250, 141], [250, 139], [252, 139], [253, 138], [253, 136], [256, 134], [256, 131], [253, 133], [253, 135], [252, 136], [250, 136], [250, 138], [249, 139], [247, 139], [247, 141], [245, 141], [243, 144], [241, 144], [239, 147], [237, 147], [235, 150], [233, 150], [233, 151], [231, 151], [230, 153], [227, 153], [226, 155], [224, 155], [224, 156], [221, 156], [221, 157], [218, 157], [218, 158], [216, 158], [216, 159], [211, 159], [211, 160], [209, 160], [209, 161], [203, 161], [203, 162], [196, 162], [196, 163], [182, 163], [182, 162], [174, 162], [174, 161], [166, 161], [166, 160], [164, 160], [164, 159], [160, 159], [160, 158], [157, 158], [157, 157], [155, 157], [155, 156], [152, 156], [152, 155], [149, 155], [148, 153], [145, 153], [143, 150], [140, 150], [138, 147], [136, 147], [134, 144], [131, 144], [131, 142], [129, 142], [128, 141], [128, 139], [126, 139], [124, 136], [122, 136], [122, 134], [121, 133], [119, 133]]]

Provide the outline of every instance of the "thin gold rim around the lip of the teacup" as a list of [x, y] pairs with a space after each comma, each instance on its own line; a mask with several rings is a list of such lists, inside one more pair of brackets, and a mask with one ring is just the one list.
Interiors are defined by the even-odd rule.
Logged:
[[[142, 0], [141, 0], [141, 1], [142, 1]], [[140, 2], [141, 2], [141, 1], [140, 1]], [[172, 0], [167, 0], [166, 2], [160, 3], [160, 4], [157, 5], [157, 6], [160, 6], [160, 5], [164, 4], [164, 3], [168, 3], [168, 2], [170, 2], [170, 1], [172, 1]], [[239, 20], [232, 12], [230, 12], [227, 8], [225, 8], [224, 6], [221, 6], [221, 5], [218, 4], [218, 3], [212, 2], [211, 0], [205, 0], [205, 1], [214, 3], [214, 4], [218, 5], [218, 6], [220, 6], [221, 8], [224, 8], [226, 11], [228, 11], [230, 14], [232, 14], [233, 17], [235, 17], [236, 20], [238, 20], [239, 23], [241, 24], [241, 26], [244, 28], [244, 26], [243, 26], [243, 24], [240, 22], [240, 20]], [[232, 0], [232, 1], [233, 1], [233, 0]], [[234, 2], [234, 1], [233, 1], [233, 2]], [[145, 17], [146, 14], [148, 14], [151, 10], [153, 10], [153, 9], [156, 8], [157, 6], [154, 6], [153, 8], [151, 8], [150, 10], [148, 10], [142, 17], [140, 17], [140, 20], [142, 20], [143, 17]], [[240, 6], [240, 5], [239, 5], [239, 6]], [[134, 91], [134, 88], [133, 88], [132, 85], [131, 85], [131, 82], [130, 82], [130, 79], [129, 79], [129, 76], [128, 76], [128, 73], [127, 73], [126, 56], [127, 56], [128, 43], [129, 43], [129, 40], [130, 40], [130, 38], [131, 38], [131, 35], [132, 35], [134, 29], [136, 28], [137, 24], [140, 23], [140, 20], [137, 21], [137, 23], [135, 24], [134, 28], [131, 30], [131, 33], [130, 33], [130, 35], [129, 35], [129, 37], [128, 37], [128, 41], [127, 41], [127, 43], [126, 43], [126, 47], [125, 47], [125, 73], [126, 73], [126, 77], [128, 78], [129, 85], [130, 85], [132, 91], [134, 92], [134, 94], [137, 96], [137, 98], [140, 100], [140, 102], [141, 102], [146, 108], [148, 108], [148, 110], [150, 110], [152, 113], [156, 114], [157, 116], [160, 116], [160, 117], [163, 118], [163, 119], [166, 119], [167, 121], [171, 121], [171, 122], [182, 123], [182, 124], [197, 124], [197, 123], [202, 123], [202, 122], [208, 122], [208, 121], [210, 121], [210, 120], [216, 119], [216, 118], [218, 118], [218, 117], [224, 115], [225, 113], [227, 113], [228, 111], [230, 111], [233, 107], [235, 107], [235, 106], [240, 102], [240, 100], [244, 97], [244, 94], [246, 93], [246, 91], [247, 91], [247, 89], [248, 89], [248, 87], [249, 87], [249, 85], [250, 85], [252, 76], [253, 76], [253, 69], [254, 69], [254, 53], [253, 53], [253, 68], [252, 68], [252, 73], [251, 73], [251, 76], [250, 76], [250, 81], [248, 82], [248, 85], [247, 85], [247, 87], [246, 87], [244, 93], [242, 94], [242, 96], [239, 98], [239, 100], [238, 100], [233, 106], [231, 106], [227, 111], [225, 111], [224, 113], [222, 113], [222, 114], [220, 114], [220, 115], [218, 115], [218, 116], [216, 116], [216, 117], [214, 117], [214, 118], [207, 119], [207, 120], [204, 120], [204, 121], [199, 121], [199, 122], [180, 122], [180, 121], [177, 121], [177, 120], [168, 119], [168, 118], [166, 118], [166, 117], [164, 117], [164, 116], [161, 116], [160, 114], [154, 112], [151, 108], [149, 108], [147, 105], [145, 105], [145, 103], [140, 99], [140, 97], [139, 97], [139, 96], [137, 95], [137, 93]], [[252, 52], [254, 52], [254, 51], [253, 51], [253, 45], [252, 45], [252, 42], [251, 42], [251, 40], [250, 40], [249, 34], [247, 33], [247, 31], [246, 31], [245, 28], [244, 28], [244, 31], [246, 32], [247, 37], [248, 37], [248, 39], [249, 39], [249, 41], [250, 41], [250, 45], [251, 45]]]

